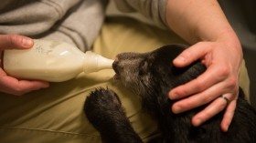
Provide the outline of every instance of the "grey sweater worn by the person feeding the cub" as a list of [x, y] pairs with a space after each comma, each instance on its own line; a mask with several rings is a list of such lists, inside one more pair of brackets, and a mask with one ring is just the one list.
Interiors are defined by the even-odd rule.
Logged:
[[[165, 25], [167, 0], [115, 0], [123, 12], [138, 11]], [[86, 51], [101, 30], [108, 0], [5, 0], [0, 34], [64, 40]]]

